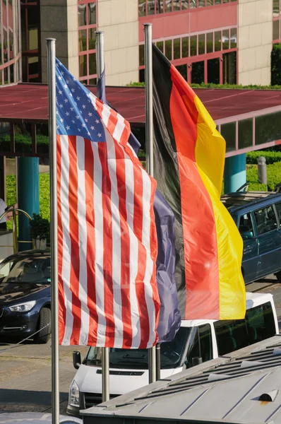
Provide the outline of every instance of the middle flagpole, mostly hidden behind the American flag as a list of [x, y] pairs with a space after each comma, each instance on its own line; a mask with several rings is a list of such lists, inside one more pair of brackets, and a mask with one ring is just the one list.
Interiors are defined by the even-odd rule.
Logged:
[[[96, 31], [97, 78], [104, 71], [104, 31]], [[102, 402], [109, 401], [109, 348], [102, 348]]]

